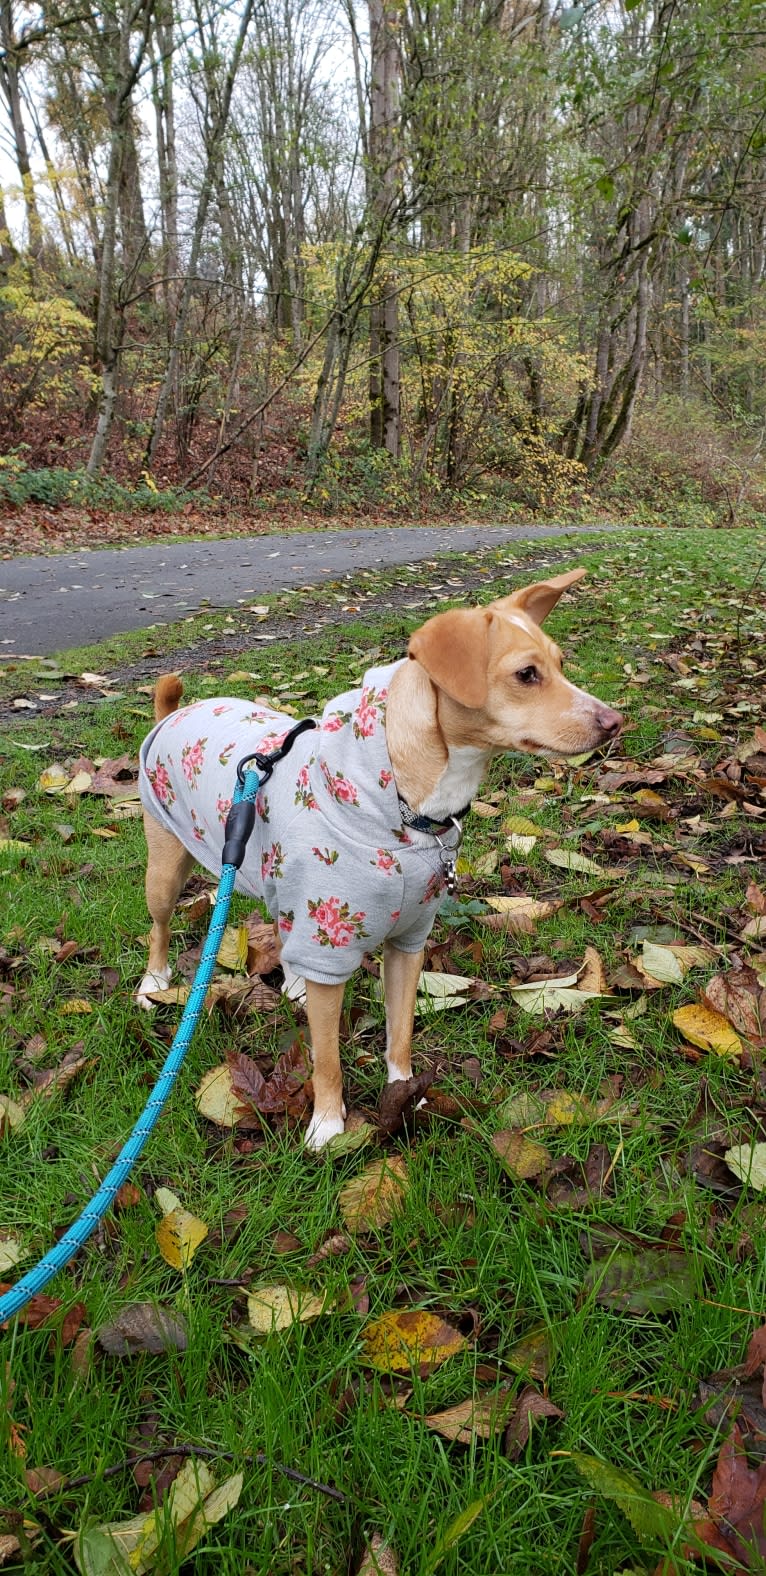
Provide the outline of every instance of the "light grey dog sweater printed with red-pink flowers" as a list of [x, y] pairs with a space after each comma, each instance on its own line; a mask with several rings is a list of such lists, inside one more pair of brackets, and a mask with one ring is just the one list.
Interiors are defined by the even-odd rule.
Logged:
[[[399, 663], [370, 668], [296, 738], [255, 801], [236, 889], [263, 898], [282, 957], [306, 979], [348, 979], [389, 938], [419, 952], [437, 916], [444, 864], [435, 838], [402, 826], [386, 750], [388, 686]], [[140, 750], [145, 808], [213, 875], [243, 755], [279, 747], [293, 719], [240, 700], [172, 712]], [[444, 837], [449, 846], [454, 834]]]

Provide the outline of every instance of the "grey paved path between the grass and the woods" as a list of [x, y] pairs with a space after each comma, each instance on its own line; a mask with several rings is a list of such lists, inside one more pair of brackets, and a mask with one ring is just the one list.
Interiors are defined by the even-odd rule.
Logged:
[[[580, 526], [578, 534], [604, 526]], [[169, 624], [200, 607], [235, 608], [270, 591], [336, 580], [353, 569], [566, 533], [548, 525], [402, 525], [11, 558], [0, 563], [0, 657], [44, 657], [126, 629]]]

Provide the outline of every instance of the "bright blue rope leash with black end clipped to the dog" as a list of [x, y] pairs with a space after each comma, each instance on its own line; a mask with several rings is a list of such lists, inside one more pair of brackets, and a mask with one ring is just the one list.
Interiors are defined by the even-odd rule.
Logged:
[[[205, 1005], [205, 996], [213, 979], [216, 958], [221, 949], [221, 938], [224, 935], [229, 909], [232, 906], [236, 872], [244, 859], [247, 838], [255, 821], [255, 797], [258, 788], [263, 782], [268, 782], [274, 763], [282, 760], [282, 755], [287, 755], [298, 733], [303, 733], [304, 728], [315, 727], [315, 722], [307, 719], [306, 722], [298, 723], [296, 728], [290, 730], [282, 747], [274, 750], [273, 755], [252, 755], [240, 761], [236, 768], [236, 788], [225, 823], [225, 842], [221, 854], [222, 864], [216, 906], [210, 920], [208, 935], [205, 936], [205, 946], [202, 949], [194, 985], [183, 1010], [183, 1018], [175, 1032], [173, 1043], [167, 1053], [165, 1064], [131, 1136], [123, 1144], [112, 1169], [104, 1177], [98, 1193], [95, 1193], [90, 1199], [90, 1204], [85, 1206], [79, 1220], [69, 1226], [65, 1236], [55, 1243], [54, 1248], [50, 1248], [49, 1253], [46, 1253], [39, 1264], [35, 1264], [35, 1269], [28, 1270], [27, 1275], [24, 1275], [22, 1280], [11, 1288], [11, 1291], [6, 1291], [5, 1295], [0, 1297], [0, 1322], [13, 1319], [16, 1313], [20, 1313], [30, 1299], [35, 1297], [36, 1292], [43, 1291], [54, 1275], [58, 1275], [58, 1270], [63, 1270], [65, 1266], [69, 1264], [69, 1259], [73, 1259], [74, 1254], [85, 1245], [88, 1237], [93, 1236], [96, 1226], [112, 1207], [115, 1193], [118, 1193], [123, 1182], [128, 1180], [150, 1133], [153, 1133], [175, 1080], [183, 1067], [186, 1051], [189, 1050]], [[252, 768], [244, 769], [247, 760], [254, 760], [258, 771], [254, 771]]]

